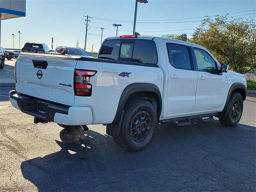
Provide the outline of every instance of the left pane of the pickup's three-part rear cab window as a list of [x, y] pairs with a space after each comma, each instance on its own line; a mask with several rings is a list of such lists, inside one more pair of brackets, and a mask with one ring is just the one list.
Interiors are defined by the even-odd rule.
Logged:
[[105, 41], [100, 49], [98, 58], [118, 60], [121, 40]]

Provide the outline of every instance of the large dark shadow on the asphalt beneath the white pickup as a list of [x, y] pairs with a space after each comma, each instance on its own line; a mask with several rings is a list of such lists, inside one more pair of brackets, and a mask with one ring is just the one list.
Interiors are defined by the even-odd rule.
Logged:
[[60, 138], [59, 152], [21, 164], [39, 191], [255, 191], [253, 126], [162, 124], [140, 152], [92, 130], [62, 130]]

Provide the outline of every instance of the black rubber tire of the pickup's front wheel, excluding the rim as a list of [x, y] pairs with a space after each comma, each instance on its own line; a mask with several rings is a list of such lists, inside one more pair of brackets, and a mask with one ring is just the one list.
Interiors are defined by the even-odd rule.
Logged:
[[[236, 102], [236, 101], [238, 101], [240, 103], [240, 113], [238, 115], [238, 118], [236, 120], [233, 120], [232, 116], [231, 116], [232, 106], [233, 106], [234, 102]], [[218, 118], [222, 125], [228, 126], [228, 127], [233, 127], [233, 126], [236, 126], [238, 124], [238, 122], [240, 121], [242, 113], [243, 113], [243, 98], [240, 93], [234, 92], [232, 94], [232, 96], [230, 97], [230, 100], [229, 100], [226, 108], [224, 108], [222, 110], [222, 112], [220, 112], [218, 114]]]

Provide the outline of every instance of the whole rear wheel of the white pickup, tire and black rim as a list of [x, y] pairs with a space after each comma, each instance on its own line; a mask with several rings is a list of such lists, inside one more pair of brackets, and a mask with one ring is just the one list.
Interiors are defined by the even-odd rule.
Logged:
[[127, 151], [143, 150], [152, 141], [156, 126], [156, 108], [147, 100], [130, 100], [124, 108], [120, 134], [114, 141]]

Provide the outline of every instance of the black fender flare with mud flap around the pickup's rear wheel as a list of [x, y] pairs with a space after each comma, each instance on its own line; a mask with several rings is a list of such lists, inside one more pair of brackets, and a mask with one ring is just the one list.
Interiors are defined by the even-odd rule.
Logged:
[[162, 96], [160, 93], [159, 88], [154, 85], [154, 84], [150, 84], [150, 83], [132, 83], [128, 86], [126, 86], [126, 88], [124, 88], [121, 96], [120, 96], [120, 100], [118, 103], [118, 107], [116, 110], [116, 115], [114, 117], [114, 120], [112, 121], [111, 124], [107, 124], [107, 134], [117, 137], [119, 136], [119, 132], [120, 132], [120, 127], [121, 127], [121, 123], [122, 123], [122, 116], [124, 114], [124, 105], [126, 104], [126, 101], [128, 100], [129, 96], [131, 96], [132, 94], [136, 93], [136, 92], [152, 92], [153, 94], [156, 95], [156, 99], [157, 99], [157, 116], [158, 116], [158, 121], [161, 115], [161, 111], [162, 111]]

